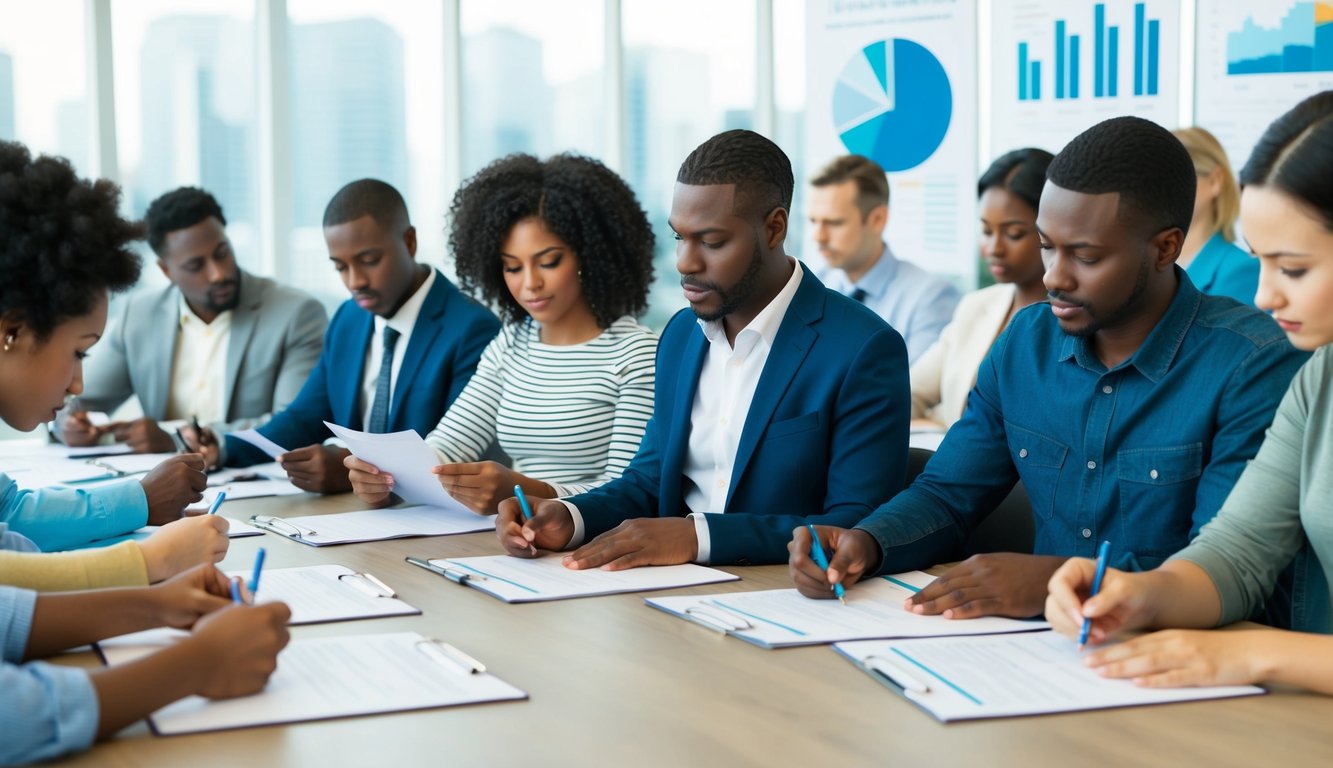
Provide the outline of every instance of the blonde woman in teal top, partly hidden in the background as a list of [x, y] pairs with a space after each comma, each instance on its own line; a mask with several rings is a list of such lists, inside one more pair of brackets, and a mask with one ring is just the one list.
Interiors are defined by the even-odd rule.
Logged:
[[1177, 264], [1204, 293], [1230, 296], [1241, 304], [1253, 305], [1258, 289], [1258, 261], [1234, 244], [1241, 193], [1226, 152], [1202, 128], [1181, 128], [1173, 133], [1189, 151], [1194, 175], [1198, 176], [1194, 216]]

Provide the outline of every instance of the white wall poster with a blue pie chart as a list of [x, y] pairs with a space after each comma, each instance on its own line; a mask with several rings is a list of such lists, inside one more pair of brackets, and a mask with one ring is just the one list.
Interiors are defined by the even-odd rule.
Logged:
[[882, 165], [893, 253], [972, 288], [976, 0], [809, 3], [805, 29], [806, 172], [848, 153]]

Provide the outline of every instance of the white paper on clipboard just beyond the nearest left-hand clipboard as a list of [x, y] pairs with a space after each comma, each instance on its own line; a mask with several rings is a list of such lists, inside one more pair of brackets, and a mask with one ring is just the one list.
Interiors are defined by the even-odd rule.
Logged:
[[[249, 581], [251, 571], [228, 571]], [[320, 624], [376, 616], [420, 613], [396, 597], [383, 595], [380, 587], [345, 565], [303, 565], [267, 568], [259, 580], [257, 603], [287, 603], [292, 609], [288, 624]]]

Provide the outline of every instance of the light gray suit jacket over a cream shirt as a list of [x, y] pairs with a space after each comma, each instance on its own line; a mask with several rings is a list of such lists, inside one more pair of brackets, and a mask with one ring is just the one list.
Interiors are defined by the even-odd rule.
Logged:
[[[257, 427], [296, 397], [324, 347], [328, 316], [309, 295], [241, 271], [240, 303], [227, 343], [225, 419], [215, 432]], [[139, 396], [144, 416], [163, 420], [180, 328], [180, 291], [140, 291], [125, 300], [84, 364], [89, 411], [113, 411]]]

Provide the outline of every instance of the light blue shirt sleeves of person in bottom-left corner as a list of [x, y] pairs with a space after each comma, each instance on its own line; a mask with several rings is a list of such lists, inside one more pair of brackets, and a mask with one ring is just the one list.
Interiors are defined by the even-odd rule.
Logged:
[[88, 672], [35, 661], [28, 648], [37, 593], [0, 587], [0, 764], [33, 763], [87, 749], [97, 736], [97, 692]]

